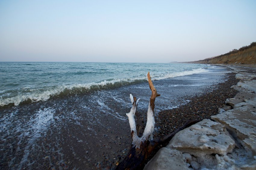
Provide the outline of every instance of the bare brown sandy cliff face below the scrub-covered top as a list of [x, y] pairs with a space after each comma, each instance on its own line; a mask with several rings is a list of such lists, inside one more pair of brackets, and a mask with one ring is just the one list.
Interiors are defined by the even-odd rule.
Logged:
[[256, 46], [224, 56], [195, 61], [201, 64], [256, 64]]

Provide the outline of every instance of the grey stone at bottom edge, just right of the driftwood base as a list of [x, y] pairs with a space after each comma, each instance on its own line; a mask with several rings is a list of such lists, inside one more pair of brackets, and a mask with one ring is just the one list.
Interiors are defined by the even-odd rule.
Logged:
[[163, 170], [163, 169], [189, 169], [186, 164], [185, 156], [178, 150], [161, 148], [156, 155], [144, 167], [145, 170]]

